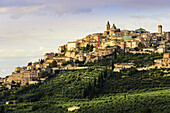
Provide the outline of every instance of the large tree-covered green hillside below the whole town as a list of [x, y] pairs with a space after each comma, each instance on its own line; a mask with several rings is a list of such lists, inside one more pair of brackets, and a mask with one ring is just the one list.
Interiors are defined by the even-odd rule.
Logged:
[[169, 69], [120, 73], [107, 68], [58, 71], [43, 83], [1, 92], [0, 99], [17, 104], [1, 105], [1, 112], [165, 112], [170, 107]]

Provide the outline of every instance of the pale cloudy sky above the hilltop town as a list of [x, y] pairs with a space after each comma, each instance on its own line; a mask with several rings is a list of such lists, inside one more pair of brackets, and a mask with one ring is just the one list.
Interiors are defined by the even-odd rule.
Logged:
[[121, 29], [170, 30], [169, 0], [0, 0], [0, 77], [109, 20]]

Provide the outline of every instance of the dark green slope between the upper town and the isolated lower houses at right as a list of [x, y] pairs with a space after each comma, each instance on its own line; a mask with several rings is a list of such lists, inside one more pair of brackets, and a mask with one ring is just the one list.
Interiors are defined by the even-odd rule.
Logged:
[[[152, 53], [152, 54], [132, 54], [132, 53], [123, 53], [119, 52], [117, 58], [114, 60], [114, 63], [135, 63], [136, 67], [145, 67], [154, 64], [155, 59], [162, 58], [162, 54]], [[112, 56], [105, 56], [102, 59], [99, 59], [96, 62], [89, 62], [85, 64], [86, 66], [97, 65], [97, 66], [111, 66]]]

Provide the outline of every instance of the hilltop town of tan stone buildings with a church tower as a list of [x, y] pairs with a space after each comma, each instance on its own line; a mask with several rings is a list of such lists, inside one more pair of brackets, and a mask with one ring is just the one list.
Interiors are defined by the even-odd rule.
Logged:
[[[0, 78], [1, 90], [12, 89], [27, 84], [43, 82], [48, 74], [56, 70], [82, 69], [88, 62], [95, 62], [114, 51], [125, 53], [163, 53], [163, 58], [155, 59], [155, 64], [146, 68], [169, 67], [170, 62], [170, 32], [163, 32], [158, 25], [158, 32], [150, 33], [143, 28], [136, 30], [121, 30], [115, 24], [106, 24], [103, 33], [89, 34], [74, 42], [60, 46], [57, 53], [46, 53], [44, 59], [30, 62], [27, 66], [16, 67], [12, 75]], [[113, 71], [135, 66], [134, 63], [114, 64]]]

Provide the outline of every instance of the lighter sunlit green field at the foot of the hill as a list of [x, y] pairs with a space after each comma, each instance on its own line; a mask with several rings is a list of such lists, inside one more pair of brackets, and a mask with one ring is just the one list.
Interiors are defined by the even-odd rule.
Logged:
[[8, 106], [17, 112], [29, 113], [56, 113], [68, 112], [67, 108], [79, 106], [81, 113], [169, 113], [170, 109], [170, 88], [156, 88], [151, 91], [139, 91], [142, 93], [121, 93], [106, 94], [92, 100], [69, 99], [20, 103]]

